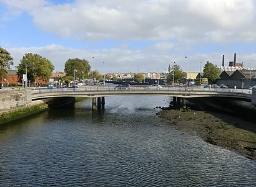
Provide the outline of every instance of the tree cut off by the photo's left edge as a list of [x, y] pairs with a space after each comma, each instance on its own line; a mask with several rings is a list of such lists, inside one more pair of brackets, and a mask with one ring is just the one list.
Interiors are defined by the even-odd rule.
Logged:
[[7, 70], [13, 65], [12, 60], [13, 58], [11, 57], [11, 54], [0, 47], [0, 75], [2, 78], [7, 76]]

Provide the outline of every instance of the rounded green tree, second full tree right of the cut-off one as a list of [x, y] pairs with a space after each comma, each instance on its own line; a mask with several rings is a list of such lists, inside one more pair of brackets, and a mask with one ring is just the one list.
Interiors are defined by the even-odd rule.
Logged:
[[74, 77], [74, 70], [76, 70], [76, 77], [82, 79], [82, 71], [83, 71], [83, 78], [90, 78], [89, 72], [91, 70], [91, 66], [89, 62], [85, 59], [79, 58], [69, 58], [65, 63], [64, 71], [67, 73], [67, 76]]

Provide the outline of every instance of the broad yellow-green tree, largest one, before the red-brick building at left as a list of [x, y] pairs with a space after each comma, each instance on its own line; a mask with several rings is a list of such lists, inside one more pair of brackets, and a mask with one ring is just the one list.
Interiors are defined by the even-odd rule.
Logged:
[[41, 57], [41, 55], [26, 53], [22, 57], [21, 63], [17, 65], [19, 80], [22, 79], [23, 74], [26, 74], [26, 69], [27, 80], [35, 82], [40, 77], [42, 80], [48, 81], [54, 70], [54, 65], [47, 58]]

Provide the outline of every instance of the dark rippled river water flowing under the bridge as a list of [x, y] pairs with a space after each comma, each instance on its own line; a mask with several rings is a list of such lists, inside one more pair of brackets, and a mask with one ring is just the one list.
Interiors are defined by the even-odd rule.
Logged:
[[91, 99], [0, 126], [0, 186], [256, 186], [256, 163], [174, 130], [169, 97]]

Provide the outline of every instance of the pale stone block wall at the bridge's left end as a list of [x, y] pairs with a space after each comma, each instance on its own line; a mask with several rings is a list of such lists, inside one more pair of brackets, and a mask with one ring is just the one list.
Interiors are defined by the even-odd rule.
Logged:
[[28, 106], [31, 103], [31, 89], [0, 90], [0, 114]]

